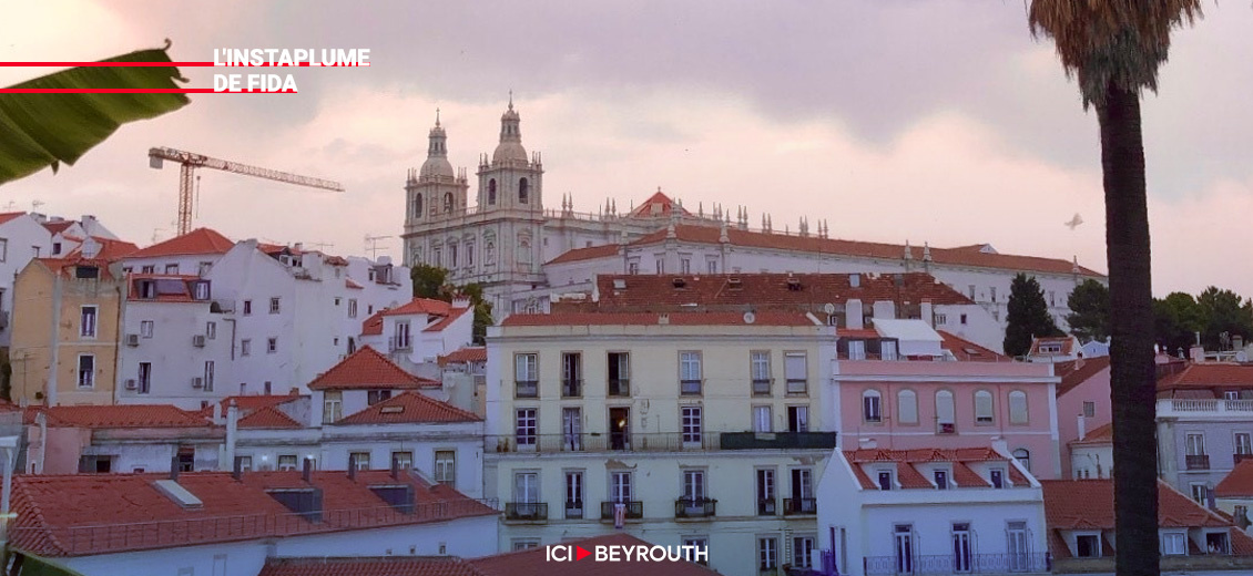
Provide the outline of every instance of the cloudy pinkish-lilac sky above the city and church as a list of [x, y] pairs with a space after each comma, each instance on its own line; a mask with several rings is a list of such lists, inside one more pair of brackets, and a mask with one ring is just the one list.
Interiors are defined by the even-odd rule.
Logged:
[[[1253, 296], [1253, 10], [1207, 4], [1144, 104], [1154, 292]], [[172, 234], [167, 145], [342, 182], [343, 194], [200, 170], [198, 225], [237, 239], [363, 237], [398, 257], [407, 168], [442, 110], [450, 159], [496, 143], [507, 93], [544, 154], [546, 205], [595, 212], [660, 187], [688, 208], [807, 215], [833, 237], [1005, 253], [1106, 269], [1096, 119], [1022, 0], [15, 3], [0, 60], [95, 60], [173, 41], [368, 48], [371, 68], [302, 69], [298, 95], [192, 95], [123, 126], [76, 165], [0, 187], [0, 205], [95, 214], [140, 245]], [[49, 70], [0, 68], [0, 84]], [[184, 68], [190, 86], [222, 69]], [[232, 71], [239, 71], [234, 69]], [[1074, 214], [1084, 224], [1064, 225]]]

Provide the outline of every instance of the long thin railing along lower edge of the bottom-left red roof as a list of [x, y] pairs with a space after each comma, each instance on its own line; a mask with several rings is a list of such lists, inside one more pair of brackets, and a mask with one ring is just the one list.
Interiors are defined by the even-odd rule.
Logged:
[[297, 512], [256, 513], [237, 516], [159, 520], [152, 522], [109, 523], [90, 526], [10, 527], [10, 541], [19, 547], [36, 545], [55, 536], [69, 556], [83, 556], [125, 550], [169, 548], [199, 543], [298, 536], [346, 528], [400, 526], [456, 518], [475, 513], [492, 513], [495, 500], [454, 500], [392, 506], [322, 511], [317, 522]]

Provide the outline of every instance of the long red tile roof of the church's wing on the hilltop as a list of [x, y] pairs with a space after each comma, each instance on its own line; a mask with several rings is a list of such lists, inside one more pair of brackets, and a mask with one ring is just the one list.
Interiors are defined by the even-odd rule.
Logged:
[[[680, 242], [695, 244], [719, 244], [722, 234], [717, 227], [677, 224], [675, 235]], [[630, 243], [630, 245], [649, 245], [667, 239], [668, 230], [660, 229]], [[727, 237], [732, 245], [764, 248], [789, 252], [811, 252], [819, 254], [847, 255], [855, 258], [873, 258], [900, 262], [905, 257], [905, 245], [877, 242], [840, 240], [833, 238], [801, 237], [757, 230], [728, 228]], [[917, 250], [917, 247], [913, 247]], [[918, 250], [921, 252], [921, 250]], [[585, 257], [584, 259], [590, 258]], [[995, 252], [972, 250], [965, 248], [931, 248], [931, 258], [936, 264], [962, 265], [972, 268], [991, 268], [1015, 272], [1041, 272], [1049, 274], [1070, 274], [1074, 263], [1058, 258], [1000, 254]], [[920, 255], [915, 255], [920, 262]], [[569, 260], [568, 260], [569, 262]], [[1079, 267], [1079, 274], [1091, 278], [1104, 275], [1089, 268]]]

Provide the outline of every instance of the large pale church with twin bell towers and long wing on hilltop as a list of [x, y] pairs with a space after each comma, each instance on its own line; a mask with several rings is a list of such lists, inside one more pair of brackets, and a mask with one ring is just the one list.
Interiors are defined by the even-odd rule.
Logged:
[[[741, 274], [927, 272], [981, 304], [1004, 326], [1010, 280], [1034, 275], [1050, 313], [1065, 329], [1066, 299], [1075, 285], [1105, 275], [1075, 259], [1001, 254], [991, 244], [956, 248], [829, 238], [819, 220], [811, 230], [774, 229], [763, 214], [749, 227], [747, 208], [705, 213], [685, 209], [660, 189], [619, 212], [576, 213], [571, 198], [544, 207], [544, 164], [523, 147], [521, 115], [512, 98], [500, 116], [496, 149], [479, 157], [475, 197], [465, 168], [449, 162], [447, 133], [436, 115], [426, 162], [405, 182], [405, 264], [449, 270], [455, 284], [479, 283], [497, 319], [545, 312], [551, 302], [591, 294], [596, 274]], [[999, 348], [999, 347], [997, 347]]]

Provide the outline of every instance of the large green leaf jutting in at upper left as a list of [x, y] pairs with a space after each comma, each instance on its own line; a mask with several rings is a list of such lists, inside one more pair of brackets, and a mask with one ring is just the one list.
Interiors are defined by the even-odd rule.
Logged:
[[[164, 49], [101, 61], [170, 61]], [[178, 68], [83, 66], [11, 88], [179, 88]], [[189, 103], [184, 94], [0, 94], [0, 184], [60, 163], [74, 164], [128, 121], [155, 118]]]

